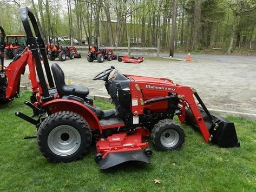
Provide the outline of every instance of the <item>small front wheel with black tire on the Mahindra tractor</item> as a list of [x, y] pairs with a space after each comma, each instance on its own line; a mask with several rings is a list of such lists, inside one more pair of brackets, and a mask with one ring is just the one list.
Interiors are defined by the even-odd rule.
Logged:
[[155, 148], [161, 151], [180, 149], [185, 141], [185, 133], [180, 124], [169, 119], [156, 123], [151, 137]]

